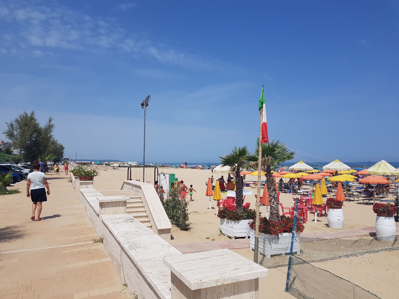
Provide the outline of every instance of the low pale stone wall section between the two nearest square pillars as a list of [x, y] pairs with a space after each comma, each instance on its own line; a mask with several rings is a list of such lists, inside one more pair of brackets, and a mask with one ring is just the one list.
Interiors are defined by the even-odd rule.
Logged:
[[170, 269], [163, 262], [182, 253], [130, 214], [102, 215], [105, 248], [138, 298], [169, 299]]

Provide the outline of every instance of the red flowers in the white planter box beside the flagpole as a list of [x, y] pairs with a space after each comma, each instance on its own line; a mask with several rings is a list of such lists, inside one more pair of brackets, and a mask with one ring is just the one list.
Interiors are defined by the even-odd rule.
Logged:
[[[255, 219], [248, 223], [252, 230], [255, 230]], [[267, 235], [278, 236], [284, 232], [292, 232], [294, 226], [294, 219], [286, 216], [281, 216], [280, 221], [269, 220], [266, 217], [261, 217], [259, 221], [259, 232]], [[296, 222], [295, 232], [300, 234], [305, 229], [305, 226]]]

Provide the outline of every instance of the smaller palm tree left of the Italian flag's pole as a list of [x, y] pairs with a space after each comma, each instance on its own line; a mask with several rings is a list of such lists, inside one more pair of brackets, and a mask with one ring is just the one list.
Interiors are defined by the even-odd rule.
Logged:
[[251, 153], [246, 146], [242, 148], [233, 148], [231, 153], [226, 153], [223, 157], [219, 157], [221, 165], [229, 166], [230, 172], [235, 173], [235, 203], [237, 212], [243, 213], [243, 180], [240, 171], [247, 165], [248, 158]]

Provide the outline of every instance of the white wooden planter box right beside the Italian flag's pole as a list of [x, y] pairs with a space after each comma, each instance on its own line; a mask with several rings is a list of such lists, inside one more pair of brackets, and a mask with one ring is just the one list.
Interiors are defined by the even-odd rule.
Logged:
[[[291, 247], [291, 236], [292, 233], [284, 232], [279, 234], [279, 236], [272, 236], [267, 234], [259, 233], [259, 252], [270, 258], [273, 254], [286, 254], [290, 253]], [[255, 231], [251, 230], [249, 247], [253, 250], [255, 247]], [[300, 235], [295, 233], [294, 237], [294, 247], [292, 253], [300, 255]]]

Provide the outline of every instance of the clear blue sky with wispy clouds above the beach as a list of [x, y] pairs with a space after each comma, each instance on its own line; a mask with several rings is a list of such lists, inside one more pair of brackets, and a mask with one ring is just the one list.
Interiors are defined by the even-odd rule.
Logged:
[[[65, 155], [217, 161], [269, 137], [397, 161], [397, 1], [3, 1], [0, 131], [53, 116]], [[0, 137], [4, 137], [0, 134]]]

